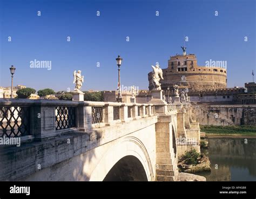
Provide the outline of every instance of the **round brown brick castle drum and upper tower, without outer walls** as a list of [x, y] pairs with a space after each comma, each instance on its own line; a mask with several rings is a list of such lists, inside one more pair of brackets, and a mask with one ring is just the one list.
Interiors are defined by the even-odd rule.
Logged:
[[[176, 54], [168, 60], [168, 67], [163, 69], [164, 80], [160, 81], [161, 88], [167, 90], [167, 87], [173, 87], [175, 84], [179, 88], [188, 88], [190, 91], [226, 88], [227, 70], [223, 66], [198, 66], [196, 55], [186, 54], [184, 50], [182, 55]], [[149, 90], [152, 90], [152, 72], [148, 74], [148, 78]]]

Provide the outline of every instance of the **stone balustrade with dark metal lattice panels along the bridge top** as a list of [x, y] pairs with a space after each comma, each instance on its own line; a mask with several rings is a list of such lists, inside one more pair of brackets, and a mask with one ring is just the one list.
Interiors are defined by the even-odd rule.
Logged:
[[[118, 102], [0, 99], [0, 136], [30, 135], [42, 140], [71, 128], [85, 131], [97, 127], [97, 123], [103, 123], [103, 127], [145, 118], [160, 113], [159, 107], [162, 106]], [[172, 104], [164, 107], [165, 113], [176, 110], [176, 106]]]

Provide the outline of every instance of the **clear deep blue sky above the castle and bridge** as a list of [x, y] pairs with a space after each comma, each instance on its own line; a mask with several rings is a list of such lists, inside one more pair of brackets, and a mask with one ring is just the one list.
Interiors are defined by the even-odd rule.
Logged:
[[[0, 86], [10, 86], [15, 65], [15, 85], [72, 90], [73, 71], [82, 70], [82, 90], [116, 90], [120, 54], [121, 84], [147, 89], [151, 65], [166, 68], [170, 56], [181, 54], [184, 36], [198, 65], [227, 61], [228, 87], [244, 86], [256, 72], [253, 0], [0, 2]], [[51, 70], [30, 68], [35, 59], [51, 60]]]

